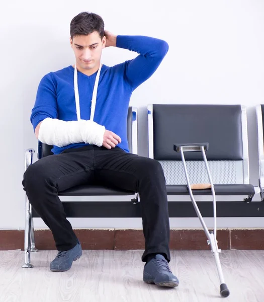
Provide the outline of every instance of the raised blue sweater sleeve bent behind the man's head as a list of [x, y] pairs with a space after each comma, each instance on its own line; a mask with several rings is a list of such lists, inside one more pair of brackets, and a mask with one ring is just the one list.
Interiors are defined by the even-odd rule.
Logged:
[[139, 53], [125, 62], [124, 77], [136, 89], [157, 69], [168, 51], [167, 42], [145, 36], [117, 36], [116, 46]]

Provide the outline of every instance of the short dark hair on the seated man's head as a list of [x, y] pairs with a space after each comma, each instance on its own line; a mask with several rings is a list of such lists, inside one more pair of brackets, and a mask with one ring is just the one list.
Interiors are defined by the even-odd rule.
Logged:
[[89, 35], [97, 31], [103, 39], [105, 35], [105, 24], [102, 19], [97, 14], [82, 12], [75, 16], [70, 22], [70, 37], [79, 35]]

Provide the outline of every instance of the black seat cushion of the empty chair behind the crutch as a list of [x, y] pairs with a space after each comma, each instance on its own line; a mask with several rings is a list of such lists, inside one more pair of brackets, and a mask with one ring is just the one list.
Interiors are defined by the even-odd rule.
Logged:
[[[254, 195], [252, 185], [214, 185], [215, 195]], [[166, 185], [167, 195], [189, 195], [187, 185]], [[211, 189], [193, 190], [194, 195], [211, 195]]]

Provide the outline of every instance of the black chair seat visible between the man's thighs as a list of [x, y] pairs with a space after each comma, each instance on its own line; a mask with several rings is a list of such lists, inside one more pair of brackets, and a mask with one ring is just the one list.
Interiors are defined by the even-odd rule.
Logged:
[[120, 190], [118, 188], [109, 188], [99, 185], [75, 186], [68, 190], [59, 192], [59, 196], [117, 196], [117, 195], [134, 195], [133, 191]]

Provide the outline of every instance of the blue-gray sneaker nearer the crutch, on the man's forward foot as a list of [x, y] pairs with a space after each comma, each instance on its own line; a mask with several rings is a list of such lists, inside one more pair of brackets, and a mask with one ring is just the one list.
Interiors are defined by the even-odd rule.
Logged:
[[176, 287], [179, 280], [174, 276], [162, 255], [156, 255], [144, 266], [143, 281], [159, 286]]

